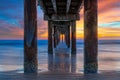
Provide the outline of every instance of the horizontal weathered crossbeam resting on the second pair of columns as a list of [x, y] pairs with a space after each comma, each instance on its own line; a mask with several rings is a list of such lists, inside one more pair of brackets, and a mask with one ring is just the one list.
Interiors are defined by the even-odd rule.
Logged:
[[80, 20], [79, 14], [53, 14], [46, 15], [44, 14], [44, 20], [53, 20], [53, 21], [71, 21], [71, 20]]

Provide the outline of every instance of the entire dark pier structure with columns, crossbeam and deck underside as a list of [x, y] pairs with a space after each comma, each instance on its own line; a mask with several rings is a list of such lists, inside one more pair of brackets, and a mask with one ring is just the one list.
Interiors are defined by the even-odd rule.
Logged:
[[[38, 3], [38, 4], [37, 4]], [[37, 6], [48, 21], [48, 54], [60, 42], [60, 34], [76, 54], [76, 21], [84, 5], [84, 73], [97, 73], [97, 0], [24, 0], [24, 73], [37, 73]]]

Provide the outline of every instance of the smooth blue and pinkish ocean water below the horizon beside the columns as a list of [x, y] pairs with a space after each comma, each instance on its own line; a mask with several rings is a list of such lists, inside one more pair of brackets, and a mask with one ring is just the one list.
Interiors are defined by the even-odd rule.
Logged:
[[[50, 61], [47, 53], [47, 44], [47, 40], [38, 40], [38, 62], [40, 71], [48, 70]], [[77, 54], [73, 62], [76, 65], [76, 72], [83, 71], [83, 47], [83, 41], [77, 40]], [[0, 40], [0, 72], [12, 70], [23, 71], [23, 55], [23, 40]], [[119, 40], [99, 40], [98, 64], [99, 70], [120, 71]], [[62, 64], [62, 67], [63, 66], [64, 64]]]

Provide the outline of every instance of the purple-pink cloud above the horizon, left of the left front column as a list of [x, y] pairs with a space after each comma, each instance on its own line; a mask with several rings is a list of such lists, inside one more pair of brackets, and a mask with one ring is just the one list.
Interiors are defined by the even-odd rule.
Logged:
[[22, 39], [23, 38], [23, 29], [14, 25], [9, 24], [4, 21], [2, 22], [3, 26], [0, 26], [0, 38], [1, 39]]

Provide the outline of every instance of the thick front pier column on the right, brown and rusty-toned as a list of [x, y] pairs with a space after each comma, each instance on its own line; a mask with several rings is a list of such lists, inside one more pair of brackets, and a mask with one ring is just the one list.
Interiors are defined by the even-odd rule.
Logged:
[[97, 73], [97, 0], [84, 0], [84, 73]]

